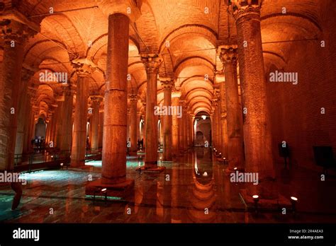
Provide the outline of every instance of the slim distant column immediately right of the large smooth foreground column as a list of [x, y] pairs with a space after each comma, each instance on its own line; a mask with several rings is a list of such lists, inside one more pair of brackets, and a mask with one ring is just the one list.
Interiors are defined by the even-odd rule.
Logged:
[[131, 94], [130, 98], [130, 155], [137, 156], [138, 151], [138, 139], [137, 139], [137, 106], [138, 95]]

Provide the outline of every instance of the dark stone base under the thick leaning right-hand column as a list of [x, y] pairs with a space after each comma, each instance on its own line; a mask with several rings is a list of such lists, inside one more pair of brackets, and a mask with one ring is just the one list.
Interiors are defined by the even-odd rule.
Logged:
[[[247, 194], [246, 189], [240, 189], [240, 195], [247, 204], [247, 209], [255, 209], [255, 203], [253, 197]], [[286, 197], [279, 194], [279, 197], [276, 199], [263, 199], [259, 197], [258, 209], [259, 210], [276, 210], [276, 209], [291, 209], [291, 201]]]

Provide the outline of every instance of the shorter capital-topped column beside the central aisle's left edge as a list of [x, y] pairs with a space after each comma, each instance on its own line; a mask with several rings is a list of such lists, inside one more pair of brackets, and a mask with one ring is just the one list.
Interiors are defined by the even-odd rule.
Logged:
[[[174, 80], [172, 78], [160, 78], [164, 93], [164, 107], [172, 106], [172, 88]], [[172, 161], [172, 115], [166, 114], [162, 117], [163, 130], [163, 160]]]

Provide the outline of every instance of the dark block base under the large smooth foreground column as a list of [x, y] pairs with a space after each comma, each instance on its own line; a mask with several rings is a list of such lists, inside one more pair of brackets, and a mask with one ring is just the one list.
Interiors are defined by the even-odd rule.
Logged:
[[134, 180], [125, 180], [118, 184], [103, 184], [102, 179], [94, 180], [86, 184], [85, 194], [94, 196], [104, 188], [107, 189], [107, 197], [130, 197], [134, 193]]

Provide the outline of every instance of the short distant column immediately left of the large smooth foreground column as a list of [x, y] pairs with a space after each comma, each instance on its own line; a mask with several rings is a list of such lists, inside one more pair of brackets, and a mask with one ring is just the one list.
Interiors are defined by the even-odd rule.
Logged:
[[92, 132], [91, 132], [91, 148], [94, 153], [98, 152], [99, 148], [99, 107], [103, 97], [101, 95], [91, 95], [92, 101]]

